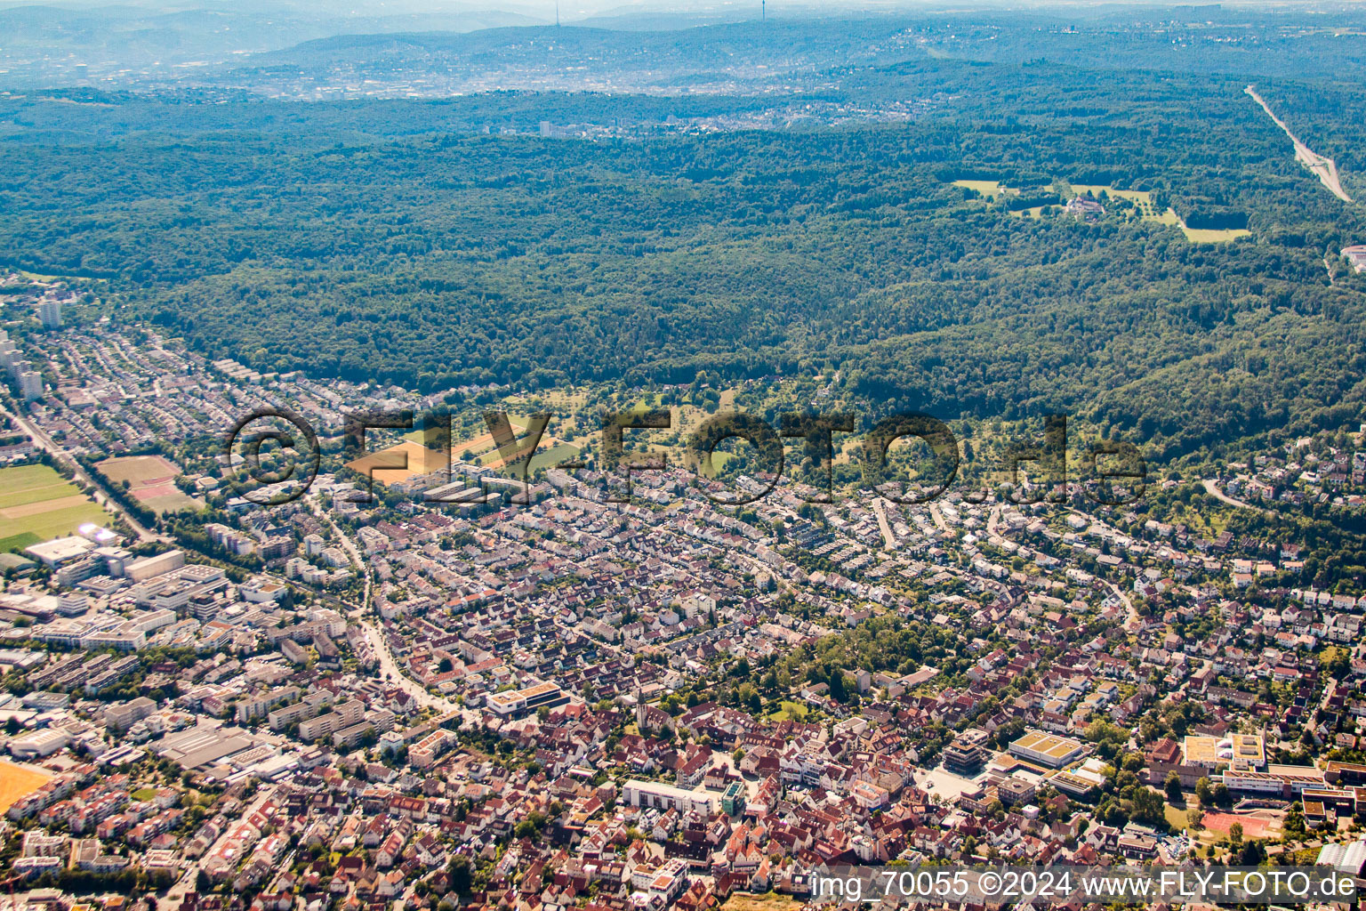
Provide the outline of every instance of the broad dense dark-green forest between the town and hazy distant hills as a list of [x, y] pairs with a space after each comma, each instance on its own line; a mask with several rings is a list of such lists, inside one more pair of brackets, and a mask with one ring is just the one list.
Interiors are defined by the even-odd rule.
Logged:
[[[936, 53], [772, 96], [11, 96], [0, 242], [262, 370], [544, 388], [835, 362], [885, 407], [1068, 410], [1158, 455], [1359, 414], [1366, 281], [1337, 251], [1363, 209], [1292, 160], [1251, 76]], [[1321, 96], [1355, 104], [1336, 116], [1303, 109], [1313, 81], [1259, 85], [1307, 142], [1359, 139], [1361, 92]], [[1063, 214], [1078, 193], [1106, 214]]]

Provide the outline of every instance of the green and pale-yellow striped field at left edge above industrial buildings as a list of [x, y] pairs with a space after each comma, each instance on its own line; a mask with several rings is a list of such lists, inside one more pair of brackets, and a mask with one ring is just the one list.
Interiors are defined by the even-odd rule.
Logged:
[[86, 522], [112, 518], [48, 466], [0, 468], [0, 552], [71, 534]]

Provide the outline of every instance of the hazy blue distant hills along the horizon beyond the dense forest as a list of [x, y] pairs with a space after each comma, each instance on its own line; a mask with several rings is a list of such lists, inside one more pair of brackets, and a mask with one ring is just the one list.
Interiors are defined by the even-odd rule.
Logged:
[[1366, 66], [1363, 16], [1299, 8], [928, 10], [777, 16], [673, 30], [575, 27], [342, 34], [231, 61], [182, 82], [328, 92], [366, 81], [403, 94], [589, 87], [731, 94], [836, 89], [859, 68], [930, 55], [1087, 70], [1341, 79]]

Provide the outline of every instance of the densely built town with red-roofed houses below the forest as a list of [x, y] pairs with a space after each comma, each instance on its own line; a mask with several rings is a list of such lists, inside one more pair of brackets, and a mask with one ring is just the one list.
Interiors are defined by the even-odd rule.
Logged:
[[[626, 500], [469, 451], [452, 479], [333, 447], [273, 503], [220, 448], [242, 415], [335, 440], [440, 397], [67, 326], [76, 292], [19, 284], [0, 903], [702, 911], [795, 907], [850, 863], [1362, 873], [1366, 594], [1317, 590], [1290, 542], [796, 478], [736, 509], [680, 466]], [[1306, 440], [1210, 485], [1341, 501], [1363, 458]]]

